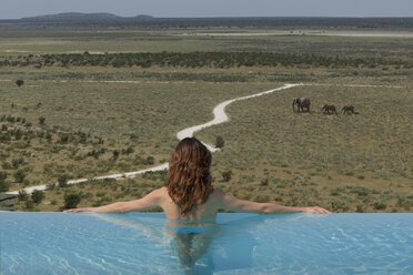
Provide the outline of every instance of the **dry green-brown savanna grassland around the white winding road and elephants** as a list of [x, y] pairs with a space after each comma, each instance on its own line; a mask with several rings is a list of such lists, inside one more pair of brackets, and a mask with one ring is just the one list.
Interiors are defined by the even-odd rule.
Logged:
[[[413, 39], [177, 35], [187, 32], [9, 31], [0, 34], [8, 38], [0, 42], [0, 59], [84, 51], [268, 51], [376, 59], [390, 64], [2, 67], [0, 108], [6, 116], [0, 124], [7, 126], [2, 134], [9, 131], [10, 140], [0, 143], [1, 170], [8, 174], [10, 190], [53, 183], [61, 175], [91, 177], [162, 163], [177, 144], [175, 133], [212, 119], [215, 104], [283, 83], [304, 82], [313, 85], [236, 102], [226, 110], [230, 122], [197, 133], [210, 143], [218, 135], [224, 139], [223, 150], [213, 156], [214, 184], [259, 202], [322, 205], [335, 212], [411, 212], [413, 142], [407, 125], [413, 122], [413, 70], [397, 63], [412, 62]], [[17, 86], [18, 79], [24, 85]], [[293, 113], [294, 96], [309, 96], [313, 112]], [[324, 115], [320, 111], [324, 103], [353, 104], [359, 114]], [[26, 121], [7, 121], [9, 115]], [[16, 139], [18, 129], [23, 133], [20, 139]], [[51, 141], [41, 133], [49, 133]], [[67, 135], [71, 138], [62, 142]], [[119, 156], [114, 157], [114, 151]], [[26, 173], [21, 183], [14, 179], [19, 170]], [[224, 177], [229, 171], [231, 176]], [[162, 186], [164, 179], [164, 173], [154, 173], [53, 189], [39, 204], [21, 200], [17, 207], [60, 211], [67, 194], [78, 194], [79, 206], [102, 205], [140, 197]]]

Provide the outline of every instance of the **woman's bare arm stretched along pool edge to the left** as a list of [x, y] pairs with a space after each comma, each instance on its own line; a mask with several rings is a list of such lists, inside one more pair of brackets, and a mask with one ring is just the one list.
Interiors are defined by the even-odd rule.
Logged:
[[141, 211], [149, 210], [157, 206], [160, 206], [161, 200], [161, 189], [152, 191], [142, 198], [129, 201], [129, 202], [119, 202], [112, 203], [99, 207], [83, 207], [83, 208], [73, 208], [66, 210], [64, 212], [75, 213], [75, 212], [103, 212], [103, 213], [127, 213], [131, 211]]

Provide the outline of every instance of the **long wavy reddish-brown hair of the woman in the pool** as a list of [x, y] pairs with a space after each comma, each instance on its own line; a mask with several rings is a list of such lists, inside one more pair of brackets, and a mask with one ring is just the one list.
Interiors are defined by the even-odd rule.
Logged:
[[211, 183], [211, 152], [195, 138], [185, 138], [169, 160], [168, 193], [187, 215], [206, 202], [213, 192]]

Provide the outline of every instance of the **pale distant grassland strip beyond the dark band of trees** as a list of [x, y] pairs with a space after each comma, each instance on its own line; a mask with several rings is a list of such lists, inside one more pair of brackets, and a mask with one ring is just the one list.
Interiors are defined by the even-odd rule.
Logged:
[[[233, 33], [251, 35], [233, 35]], [[278, 31], [275, 29], [274, 31]], [[326, 37], [324, 30], [294, 30], [272, 35], [271, 30], [108, 30], [6, 29], [0, 32], [1, 55], [119, 52], [279, 52], [323, 57], [410, 60], [413, 39], [406, 37]], [[376, 30], [375, 30], [376, 31]], [[392, 30], [390, 30], [392, 31]], [[410, 33], [393, 30], [393, 33]], [[208, 32], [209, 35], [197, 35]], [[265, 32], [269, 33], [265, 35]], [[303, 35], [310, 32], [313, 35]], [[370, 31], [372, 32], [372, 31]], [[389, 30], [386, 31], [389, 32]], [[191, 34], [191, 35], [188, 35]], [[216, 35], [214, 35], [216, 33]], [[222, 35], [222, 34], [228, 35]], [[262, 35], [254, 35], [263, 33]], [[324, 32], [325, 33], [325, 32]], [[357, 32], [360, 33], [360, 32]], [[361, 32], [363, 33], [363, 32]], [[374, 31], [373, 31], [374, 33]], [[380, 33], [380, 32], [379, 32]], [[334, 34], [334, 33], [333, 33]]]

